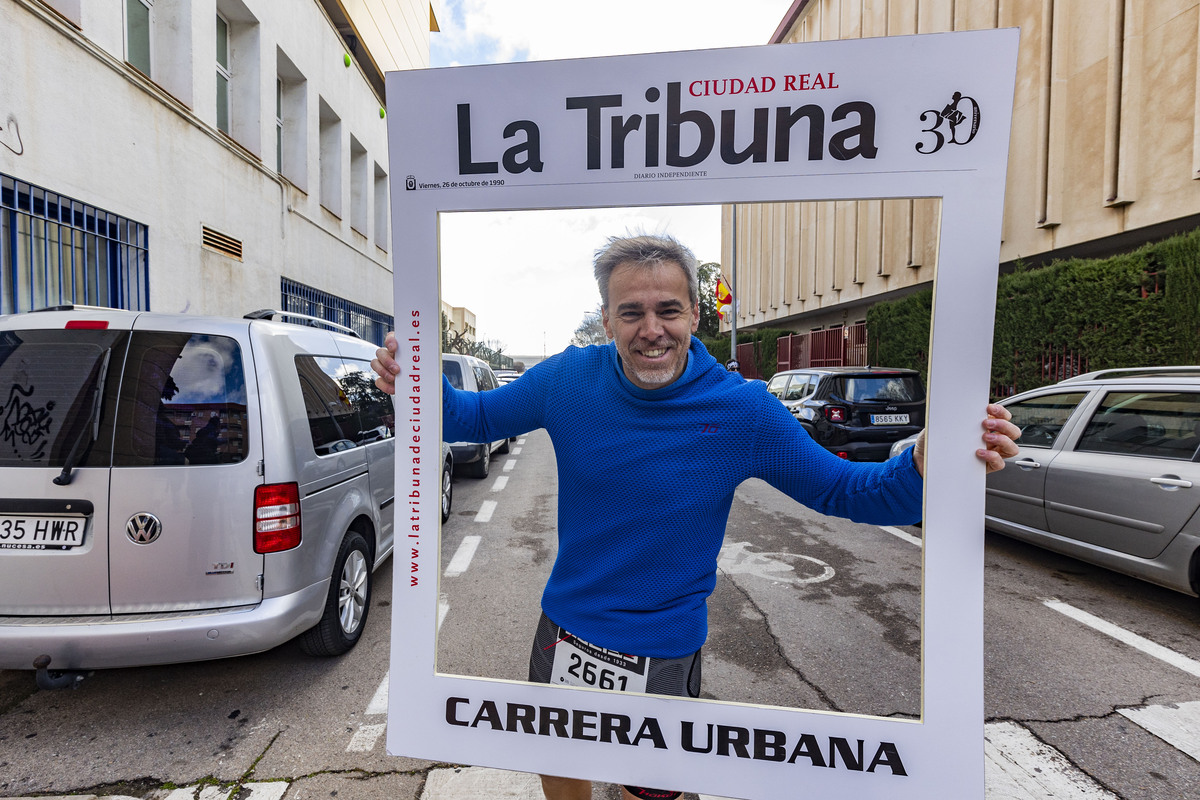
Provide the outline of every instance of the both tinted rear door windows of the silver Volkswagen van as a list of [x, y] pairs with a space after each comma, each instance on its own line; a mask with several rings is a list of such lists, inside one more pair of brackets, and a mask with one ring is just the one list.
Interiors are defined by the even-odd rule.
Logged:
[[0, 331], [0, 467], [232, 464], [246, 419], [227, 336]]

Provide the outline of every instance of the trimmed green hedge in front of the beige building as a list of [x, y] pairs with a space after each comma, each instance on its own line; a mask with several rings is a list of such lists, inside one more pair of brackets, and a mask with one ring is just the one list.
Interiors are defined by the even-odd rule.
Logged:
[[[871, 307], [871, 363], [928, 371], [931, 308], [931, 290]], [[1055, 383], [1040, 356], [1067, 353], [1088, 369], [1200, 363], [1200, 230], [1001, 276], [992, 385]]]

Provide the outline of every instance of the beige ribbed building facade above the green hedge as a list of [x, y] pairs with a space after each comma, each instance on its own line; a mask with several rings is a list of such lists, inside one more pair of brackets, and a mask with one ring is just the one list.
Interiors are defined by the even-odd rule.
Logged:
[[[991, 28], [1021, 31], [1002, 269], [1200, 224], [1196, 0], [794, 0], [772, 42]], [[938, 203], [726, 206], [738, 326], [853, 325], [872, 303], [930, 285]]]

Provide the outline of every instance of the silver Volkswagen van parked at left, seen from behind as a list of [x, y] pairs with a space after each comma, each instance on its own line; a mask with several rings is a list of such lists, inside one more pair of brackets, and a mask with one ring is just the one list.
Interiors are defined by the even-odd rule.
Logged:
[[276, 314], [0, 318], [0, 668], [354, 646], [394, 405], [373, 344]]

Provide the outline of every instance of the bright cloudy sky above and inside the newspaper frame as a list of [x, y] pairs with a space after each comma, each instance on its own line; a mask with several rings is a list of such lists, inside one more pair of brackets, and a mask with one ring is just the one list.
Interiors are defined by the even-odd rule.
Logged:
[[[442, 0], [434, 67], [764, 44], [791, 0]], [[736, 13], [731, 13], [736, 8]], [[720, 260], [720, 212], [694, 209], [448, 215], [442, 296], [510, 355], [554, 354], [599, 302], [592, 254], [610, 235], [670, 233]]]

